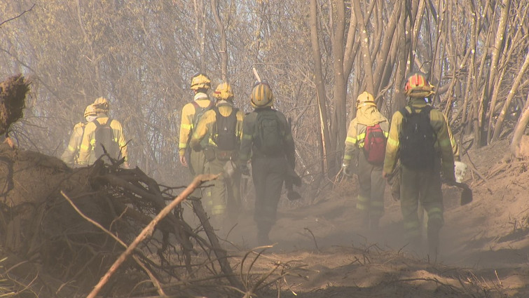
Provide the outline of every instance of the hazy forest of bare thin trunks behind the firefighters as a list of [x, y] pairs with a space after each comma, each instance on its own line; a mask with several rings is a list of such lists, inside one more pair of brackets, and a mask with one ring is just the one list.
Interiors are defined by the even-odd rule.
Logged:
[[412, 71], [437, 86], [433, 103], [467, 149], [529, 117], [526, 0], [1, 0], [0, 11], [0, 76], [32, 81], [18, 146], [60, 156], [86, 105], [107, 97], [131, 165], [163, 183], [188, 180], [179, 117], [199, 71], [212, 88], [231, 83], [244, 111], [252, 69], [270, 81], [316, 188], [339, 170], [357, 95], [390, 118]]

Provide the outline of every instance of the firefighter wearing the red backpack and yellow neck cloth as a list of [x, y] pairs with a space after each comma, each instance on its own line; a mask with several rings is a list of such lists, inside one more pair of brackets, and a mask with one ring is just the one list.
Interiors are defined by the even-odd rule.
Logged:
[[363, 225], [370, 229], [378, 229], [384, 213], [382, 165], [389, 130], [390, 123], [378, 111], [373, 95], [367, 92], [358, 95], [357, 116], [349, 125], [342, 168], [344, 175], [350, 176], [357, 163], [357, 208], [364, 213]]

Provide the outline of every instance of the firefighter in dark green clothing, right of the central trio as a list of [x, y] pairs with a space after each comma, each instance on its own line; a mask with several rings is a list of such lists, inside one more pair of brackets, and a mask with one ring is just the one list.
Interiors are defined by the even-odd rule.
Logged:
[[239, 168], [249, 175], [247, 162], [251, 158], [257, 241], [266, 245], [270, 244], [268, 234], [276, 221], [283, 182], [289, 168], [294, 172], [294, 140], [287, 118], [272, 107], [274, 96], [266, 81], [254, 85], [250, 102], [254, 111], [242, 123]]

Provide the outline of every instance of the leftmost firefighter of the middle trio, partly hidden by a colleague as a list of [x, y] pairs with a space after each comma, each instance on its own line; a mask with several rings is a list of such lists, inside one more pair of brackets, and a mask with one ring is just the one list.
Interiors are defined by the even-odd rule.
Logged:
[[[202, 140], [200, 148], [197, 150], [191, 150], [189, 147], [189, 140], [193, 130], [198, 123], [200, 117], [205, 111], [214, 107], [214, 102], [209, 100], [207, 91], [211, 87], [211, 80], [205, 74], [200, 72], [193, 75], [191, 78], [191, 90], [195, 93], [193, 102], [189, 102], [182, 108], [181, 112], [181, 124], [180, 124], [180, 137], [178, 151], [180, 156], [180, 163], [184, 167], [189, 168], [192, 176], [209, 173], [209, 165], [204, 155], [203, 148], [206, 147], [207, 140]], [[190, 195], [191, 198], [205, 198], [211, 195], [210, 188], [199, 188], [195, 189]]]

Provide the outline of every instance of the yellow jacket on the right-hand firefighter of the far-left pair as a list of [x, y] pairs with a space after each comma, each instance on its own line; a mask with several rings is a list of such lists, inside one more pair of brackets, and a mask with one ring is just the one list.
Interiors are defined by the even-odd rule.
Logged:
[[[94, 121], [105, 125], [108, 120], [109, 116], [107, 114], [97, 114], [97, 118]], [[123, 135], [121, 123], [116, 119], [112, 119], [110, 127], [114, 133], [114, 141], [121, 147], [121, 157], [125, 158], [125, 161], [128, 161], [127, 141], [125, 140], [125, 135]], [[79, 165], [91, 165], [95, 162], [94, 145], [96, 128], [97, 126], [93, 122], [85, 126], [85, 134], [83, 135], [83, 142], [81, 142], [81, 149], [79, 151]]]

